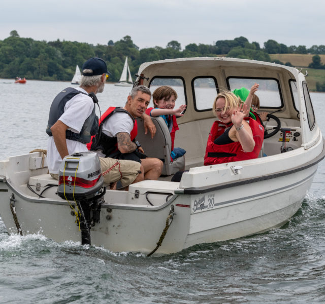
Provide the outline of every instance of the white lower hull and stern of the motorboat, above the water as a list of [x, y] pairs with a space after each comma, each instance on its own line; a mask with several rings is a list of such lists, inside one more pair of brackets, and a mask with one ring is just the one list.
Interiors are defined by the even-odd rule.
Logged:
[[[200, 243], [262, 233], [281, 226], [297, 212], [316, 170], [317, 164], [298, 173], [256, 181], [249, 186], [234, 185], [191, 195], [175, 194], [167, 202], [168, 192], [157, 194], [152, 198], [157, 204], [153, 207], [146, 200], [148, 185], [143, 189], [141, 185], [132, 185], [130, 187], [140, 189], [137, 204], [133, 203], [133, 189], [123, 194], [123, 203], [114, 203], [118, 191], [105, 196], [100, 223], [91, 229], [91, 244], [113, 252], [149, 253], [165, 228], [172, 205], [175, 215], [157, 253], [173, 253]], [[10, 181], [0, 183], [0, 187], [0, 214], [10, 234], [17, 233], [9, 204], [14, 194], [23, 234], [42, 234], [57, 242], [81, 241], [81, 232], [68, 202], [59, 198], [27, 197], [16, 191]], [[150, 186], [150, 191], [155, 191], [154, 186]]]

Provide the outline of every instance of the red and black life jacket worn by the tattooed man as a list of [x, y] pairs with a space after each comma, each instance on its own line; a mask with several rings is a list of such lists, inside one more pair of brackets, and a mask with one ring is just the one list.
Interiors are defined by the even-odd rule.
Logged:
[[[131, 113], [129, 113], [128, 111], [120, 108], [120, 107], [114, 107], [114, 106], [110, 106], [105, 113], [102, 115], [102, 117], [99, 119], [99, 125], [100, 125], [100, 130], [101, 128], [101, 124], [104, 124], [104, 122], [106, 120], [108, 120], [114, 113], [117, 112], [124, 112], [127, 113], [132, 119], [133, 119], [133, 129], [131, 131], [130, 137], [131, 140], [134, 140], [138, 134], [138, 124], [137, 121], [134, 119], [134, 117], [132, 117]], [[98, 134], [94, 135], [91, 137], [91, 141], [87, 144], [87, 148], [88, 150], [97, 150], [97, 149], [102, 149], [103, 153], [105, 153], [105, 151], [108, 151], [108, 145], [111, 146], [111, 151], [109, 154], [113, 153], [114, 151], [117, 150], [117, 139], [116, 137], [110, 137], [104, 133], [102, 133], [101, 138], [99, 139], [98, 142], [96, 142], [96, 136], [98, 136]]]

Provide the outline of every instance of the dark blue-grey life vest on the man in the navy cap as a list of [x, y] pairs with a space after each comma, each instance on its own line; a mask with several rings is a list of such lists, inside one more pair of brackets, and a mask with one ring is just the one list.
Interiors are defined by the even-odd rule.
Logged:
[[[73, 98], [77, 94], [85, 94], [89, 96], [88, 94], [80, 92], [74, 88], [66, 88], [56, 95], [56, 97], [54, 98], [51, 104], [49, 121], [46, 127], [46, 133], [49, 136], [53, 136], [51, 132], [51, 127], [57, 122], [57, 120], [63, 114], [64, 106], [71, 98]], [[66, 138], [75, 141], [80, 141], [81, 143], [87, 144], [88, 142], [90, 142], [91, 136], [95, 135], [97, 132], [98, 132], [98, 117], [95, 114], [95, 106], [94, 106], [91, 114], [85, 120], [80, 133], [75, 133], [70, 130], [67, 130]]]

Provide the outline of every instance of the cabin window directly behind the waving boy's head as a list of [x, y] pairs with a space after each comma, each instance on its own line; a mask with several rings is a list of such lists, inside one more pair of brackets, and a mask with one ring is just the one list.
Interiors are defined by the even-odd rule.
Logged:
[[[185, 83], [184, 79], [181, 77], [155, 77], [151, 80], [149, 84], [149, 88], [151, 93], [154, 92], [155, 89], [161, 86], [169, 86], [172, 87], [177, 93], [177, 99], [175, 101], [175, 108], [178, 108], [182, 104], [187, 104], [186, 102], [186, 93], [185, 93]], [[148, 107], [153, 107], [152, 97], [150, 100], [150, 104]]]

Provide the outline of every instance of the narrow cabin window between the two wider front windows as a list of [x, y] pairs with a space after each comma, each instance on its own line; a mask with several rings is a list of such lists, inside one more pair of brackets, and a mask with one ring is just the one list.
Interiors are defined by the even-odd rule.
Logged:
[[212, 109], [212, 104], [218, 95], [217, 81], [214, 77], [197, 77], [192, 80], [194, 108], [197, 111]]

